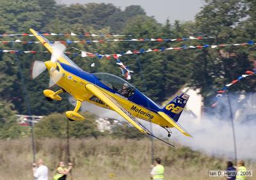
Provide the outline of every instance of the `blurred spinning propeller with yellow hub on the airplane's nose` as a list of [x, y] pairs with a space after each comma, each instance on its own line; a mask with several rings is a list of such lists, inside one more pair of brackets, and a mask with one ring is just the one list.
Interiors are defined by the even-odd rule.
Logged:
[[59, 70], [56, 70], [56, 62], [59, 57], [62, 56], [63, 52], [65, 52], [66, 47], [62, 43], [54, 43], [52, 45], [52, 56], [51, 61], [35, 61], [32, 66], [31, 77], [35, 79], [43, 73], [46, 69], [49, 70], [50, 82], [49, 87], [54, 86], [60, 79], [61, 73]]

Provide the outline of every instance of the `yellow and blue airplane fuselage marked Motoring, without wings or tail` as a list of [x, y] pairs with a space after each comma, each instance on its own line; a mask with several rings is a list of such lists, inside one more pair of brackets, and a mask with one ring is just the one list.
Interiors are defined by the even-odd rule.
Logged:
[[[131, 96], [125, 97], [121, 93], [118, 93], [118, 89], [115, 89], [113, 85], [96, 77], [97, 73], [94, 75], [86, 71], [77, 70], [76, 68], [73, 68], [72, 66], [69, 66], [67, 64], [57, 64], [59, 67], [59, 72], [56, 73], [61, 73], [61, 79], [57, 82], [58, 86], [65, 89], [65, 91], [71, 94], [76, 100], [88, 101], [99, 107], [112, 110], [108, 107], [108, 105], [106, 105], [103, 101], [101, 101], [99, 98], [94, 96], [92, 93], [90, 93], [90, 91], [86, 89], [86, 84], [93, 84], [101, 91], [108, 94], [108, 96], [114, 98], [133, 117], [143, 119], [145, 121], [149, 121], [160, 126], [172, 127], [172, 124], [168, 123], [163, 117], [157, 114], [157, 111], [160, 111], [160, 108], [152, 100], [147, 98], [147, 96], [140, 93], [138, 89], [132, 87], [133, 94], [131, 94]], [[112, 78], [111, 76], [115, 77], [114, 75], [110, 75], [107, 73], [102, 73], [102, 75], [109, 75], [110, 79]], [[115, 78], [117, 78], [118, 81], [122, 82], [119, 77]], [[123, 81], [124, 83], [126, 83], [125, 80]]]

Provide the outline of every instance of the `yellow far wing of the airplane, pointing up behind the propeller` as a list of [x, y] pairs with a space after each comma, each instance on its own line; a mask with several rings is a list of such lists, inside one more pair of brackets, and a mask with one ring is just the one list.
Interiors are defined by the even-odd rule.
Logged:
[[[46, 47], [46, 49], [49, 50], [49, 52], [53, 53], [53, 48], [52, 48], [53, 44], [49, 40], [47, 40], [42, 34], [36, 32], [34, 29], [29, 29], [29, 30], [44, 45], [44, 47]], [[71, 61], [71, 59], [69, 59], [63, 53], [61, 53], [61, 56], [58, 56], [58, 61], [81, 70], [81, 68], [79, 68], [79, 66], [77, 66], [77, 64], [75, 64], [73, 61]]]

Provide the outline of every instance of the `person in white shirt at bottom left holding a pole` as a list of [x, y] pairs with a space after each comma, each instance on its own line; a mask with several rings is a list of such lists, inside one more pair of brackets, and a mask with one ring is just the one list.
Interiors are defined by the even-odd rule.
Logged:
[[44, 165], [44, 161], [39, 159], [36, 163], [33, 163], [33, 176], [36, 180], [48, 180], [48, 168]]

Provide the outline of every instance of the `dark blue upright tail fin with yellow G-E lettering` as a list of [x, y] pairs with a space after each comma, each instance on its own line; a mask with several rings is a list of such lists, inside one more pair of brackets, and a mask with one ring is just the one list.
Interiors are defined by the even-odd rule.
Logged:
[[168, 103], [162, 111], [171, 117], [175, 122], [178, 122], [180, 114], [182, 113], [186, 103], [188, 101], [189, 95], [182, 93], [180, 96], [174, 98], [170, 103]]

